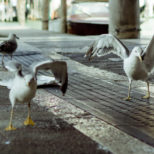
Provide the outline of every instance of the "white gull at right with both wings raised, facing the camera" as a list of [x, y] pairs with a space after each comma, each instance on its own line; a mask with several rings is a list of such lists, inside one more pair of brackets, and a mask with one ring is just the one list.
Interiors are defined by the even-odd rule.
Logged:
[[123, 69], [128, 77], [128, 96], [124, 100], [131, 100], [130, 91], [133, 80], [142, 80], [147, 83], [147, 94], [143, 98], [150, 98], [148, 77], [154, 67], [154, 35], [144, 50], [135, 46], [132, 51], [129, 51], [117, 37], [102, 34], [91, 44], [84, 57], [88, 57], [90, 61], [95, 56], [101, 57], [111, 52], [123, 59]]

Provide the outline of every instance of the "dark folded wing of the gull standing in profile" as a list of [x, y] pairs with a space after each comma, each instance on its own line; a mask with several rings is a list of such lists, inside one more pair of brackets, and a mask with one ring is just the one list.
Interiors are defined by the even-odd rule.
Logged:
[[3, 41], [0, 44], [0, 52], [7, 52], [8, 54], [12, 53], [13, 51], [15, 51], [17, 48], [17, 43], [16, 41], [12, 41], [12, 40], [8, 40], [8, 41]]

